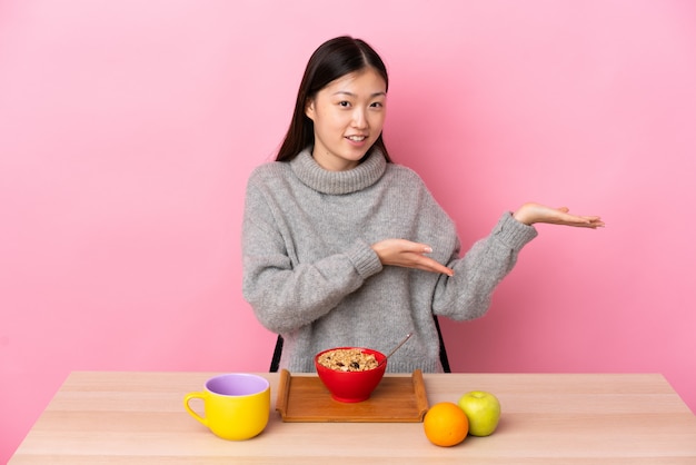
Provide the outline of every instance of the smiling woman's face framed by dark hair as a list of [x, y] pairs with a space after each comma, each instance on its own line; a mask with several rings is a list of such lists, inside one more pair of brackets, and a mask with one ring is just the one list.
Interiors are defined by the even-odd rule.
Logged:
[[307, 102], [314, 121], [312, 157], [324, 169], [355, 168], [385, 123], [387, 83], [372, 68], [331, 81]]

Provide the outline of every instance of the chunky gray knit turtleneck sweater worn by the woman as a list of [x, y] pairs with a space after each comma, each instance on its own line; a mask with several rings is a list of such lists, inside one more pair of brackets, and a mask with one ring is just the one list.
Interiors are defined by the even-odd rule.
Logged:
[[[285, 339], [280, 367], [314, 372], [314, 355], [340, 346], [388, 352], [388, 370], [441, 372], [432, 315], [477, 318], [535, 228], [503, 215], [460, 257], [453, 220], [412, 170], [378, 151], [348, 171], [327, 171], [309, 150], [258, 167], [247, 186], [243, 296]], [[382, 266], [371, 245], [427, 244], [454, 277]]]

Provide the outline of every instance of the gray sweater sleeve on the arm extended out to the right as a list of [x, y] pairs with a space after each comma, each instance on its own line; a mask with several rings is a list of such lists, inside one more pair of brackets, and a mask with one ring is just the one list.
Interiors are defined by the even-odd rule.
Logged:
[[536, 236], [534, 227], [504, 214], [488, 237], [474, 244], [464, 257], [453, 256], [449, 267], [455, 276], [439, 277], [434, 313], [457, 320], [483, 316], [496, 286], [513, 269], [521, 248]]

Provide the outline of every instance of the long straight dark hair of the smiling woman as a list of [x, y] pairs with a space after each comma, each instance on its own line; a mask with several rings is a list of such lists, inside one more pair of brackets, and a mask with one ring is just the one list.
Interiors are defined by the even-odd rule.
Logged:
[[[307, 101], [331, 81], [368, 67], [375, 69], [384, 78], [386, 89], [388, 89], [387, 68], [379, 55], [364, 40], [348, 36], [337, 37], [324, 42], [315, 50], [307, 62], [305, 76], [297, 92], [290, 128], [278, 150], [277, 161], [290, 161], [314, 144], [314, 121], [305, 113]], [[381, 150], [387, 162], [391, 162], [381, 135], [375, 141], [374, 147]]]

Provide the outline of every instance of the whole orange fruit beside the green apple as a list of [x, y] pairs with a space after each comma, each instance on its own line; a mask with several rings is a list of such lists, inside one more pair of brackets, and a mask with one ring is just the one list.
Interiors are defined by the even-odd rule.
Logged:
[[422, 421], [426, 437], [435, 445], [455, 446], [467, 437], [469, 421], [457, 404], [440, 402], [426, 413]]

